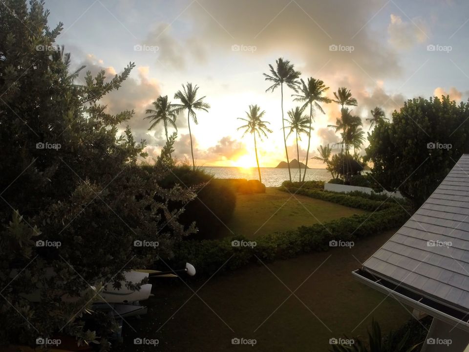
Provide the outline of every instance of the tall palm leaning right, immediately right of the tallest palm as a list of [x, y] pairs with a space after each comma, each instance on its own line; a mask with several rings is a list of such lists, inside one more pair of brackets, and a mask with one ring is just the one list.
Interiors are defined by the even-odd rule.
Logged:
[[305, 109], [309, 104], [308, 149], [306, 150], [306, 167], [304, 168], [303, 182], [304, 177], [306, 176], [306, 168], [308, 167], [309, 147], [311, 143], [311, 122], [314, 121], [313, 104], [316, 109], [320, 110], [322, 113], [325, 113], [319, 103], [330, 103], [332, 101], [331, 99], [322, 96], [322, 94], [325, 93], [327, 89], [329, 89], [329, 87], [326, 87], [324, 82], [314, 79], [313, 77], [309, 77], [307, 85], [304, 83], [303, 79], [301, 79], [301, 87], [299, 88], [301, 94], [292, 95], [295, 97], [295, 99], [293, 99], [294, 101], [304, 102], [304, 105], [301, 107], [301, 109]]

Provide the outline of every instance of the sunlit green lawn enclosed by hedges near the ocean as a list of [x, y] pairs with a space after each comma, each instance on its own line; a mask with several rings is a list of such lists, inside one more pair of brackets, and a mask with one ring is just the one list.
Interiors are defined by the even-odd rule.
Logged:
[[[243, 235], [247, 238], [285, 231], [301, 225], [313, 225], [365, 211], [327, 201], [292, 195], [276, 188], [266, 193], [237, 195], [233, 219], [224, 227], [225, 236]], [[232, 232], [231, 232], [231, 231]]]

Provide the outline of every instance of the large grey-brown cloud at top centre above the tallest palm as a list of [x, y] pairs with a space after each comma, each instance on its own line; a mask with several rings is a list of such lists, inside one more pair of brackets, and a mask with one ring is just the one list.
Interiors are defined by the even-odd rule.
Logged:
[[[390, 77], [401, 72], [397, 53], [363, 26], [383, 5], [382, 0], [367, 6], [341, 0], [271, 0], [268, 6], [263, 0], [200, 0], [182, 17], [202, 38], [210, 38], [211, 52], [223, 52], [233, 61], [285, 55], [296, 58], [297, 68], [307, 74], [327, 63], [322, 72], [362, 74], [364, 67], [372, 76]], [[256, 51], [233, 52], [235, 44]], [[353, 45], [354, 50], [330, 51], [333, 44]]]

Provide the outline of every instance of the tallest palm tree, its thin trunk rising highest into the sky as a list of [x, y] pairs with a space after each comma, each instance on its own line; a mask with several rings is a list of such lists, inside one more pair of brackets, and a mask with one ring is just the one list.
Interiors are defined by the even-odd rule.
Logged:
[[295, 67], [293, 64], [290, 64], [290, 61], [283, 60], [283, 58], [278, 58], [275, 61], [276, 68], [272, 65], [270, 67], [270, 75], [264, 73], [264, 77], [266, 81], [273, 82], [274, 84], [266, 89], [267, 91], [274, 91], [276, 88], [280, 87], [281, 92], [281, 109], [282, 109], [282, 127], [283, 127], [283, 143], [285, 144], [285, 155], [287, 157], [287, 164], [288, 164], [288, 176], [290, 177], [290, 182], [292, 181], [292, 173], [290, 171], [290, 160], [288, 159], [288, 150], [287, 150], [287, 137], [285, 136], [285, 123], [284, 123], [284, 116], [283, 116], [283, 84], [286, 84], [288, 88], [291, 88], [297, 91], [297, 87], [299, 84], [298, 78], [301, 72], [295, 71]]

